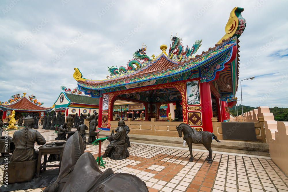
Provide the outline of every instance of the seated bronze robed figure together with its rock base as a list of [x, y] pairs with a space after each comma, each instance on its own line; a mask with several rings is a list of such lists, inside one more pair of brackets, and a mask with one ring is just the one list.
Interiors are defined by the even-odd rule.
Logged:
[[[124, 127], [124, 121], [118, 121], [117, 132], [114, 134], [114, 130], [111, 132], [111, 138], [113, 139], [107, 146], [103, 158], [110, 157], [110, 159], [126, 159], [129, 157], [128, 144], [126, 142], [126, 129]], [[109, 136], [108, 136], [109, 137]]]

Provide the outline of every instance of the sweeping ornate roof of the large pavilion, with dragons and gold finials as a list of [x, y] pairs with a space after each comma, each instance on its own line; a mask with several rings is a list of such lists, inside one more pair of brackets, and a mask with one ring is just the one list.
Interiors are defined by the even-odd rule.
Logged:
[[225, 88], [223, 92], [235, 94], [239, 81], [238, 38], [246, 26], [246, 20], [241, 15], [243, 10], [243, 8], [235, 7], [231, 11], [225, 27], [226, 34], [215, 44], [215, 47], [210, 47], [200, 55], [192, 56], [201, 46], [202, 40], [196, 41], [191, 50], [187, 46], [184, 51], [182, 39], [176, 35], [171, 39], [172, 45], [168, 54], [166, 54], [167, 45], [161, 45], [162, 54], [157, 58], [153, 55], [153, 59], [150, 59], [146, 55], [147, 47], [142, 46], [133, 54], [133, 59], [128, 61], [126, 68], [124, 66], [108, 67], [110, 78], [99, 81], [85, 79], [82, 78], [82, 73], [78, 68], [74, 68], [73, 77], [77, 80], [81, 91], [98, 97], [101, 90], [117, 87], [126, 89], [127, 86], [132, 87], [135, 83], [141, 84], [198, 69], [200, 79], [207, 82], [216, 81], [219, 88], [222, 90]]

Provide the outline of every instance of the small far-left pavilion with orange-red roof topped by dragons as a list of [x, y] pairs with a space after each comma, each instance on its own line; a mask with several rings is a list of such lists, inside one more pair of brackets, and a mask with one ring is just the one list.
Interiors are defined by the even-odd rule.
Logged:
[[41, 102], [37, 101], [36, 97], [31, 95], [26, 97], [26, 93], [13, 95], [8, 102], [2, 102], [0, 109], [3, 111], [2, 119], [8, 119], [11, 112], [16, 112], [16, 117], [21, 116], [20, 113], [39, 113], [39, 117], [43, 117], [46, 112], [52, 111], [53, 107], [42, 107]]

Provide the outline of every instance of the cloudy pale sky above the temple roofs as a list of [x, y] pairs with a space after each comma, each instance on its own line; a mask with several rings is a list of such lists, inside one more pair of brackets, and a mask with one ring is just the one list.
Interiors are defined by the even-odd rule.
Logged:
[[[101, 80], [107, 67], [126, 65], [147, 45], [161, 53], [178, 33], [183, 46], [203, 39], [198, 54], [214, 47], [234, 7], [247, 26], [240, 37], [243, 105], [288, 107], [288, 1], [80, 1], [1, 0], [0, 100], [26, 92], [50, 107], [60, 85], [74, 88], [74, 68]], [[240, 99], [240, 82], [236, 96]], [[240, 103], [240, 102], [239, 102]]]

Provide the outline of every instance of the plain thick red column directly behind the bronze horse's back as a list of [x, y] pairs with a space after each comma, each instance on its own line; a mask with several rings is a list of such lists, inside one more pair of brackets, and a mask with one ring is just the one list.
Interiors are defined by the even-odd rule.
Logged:
[[200, 95], [202, 100], [202, 128], [203, 131], [213, 132], [212, 126], [212, 98], [210, 84], [207, 82], [200, 83]]

